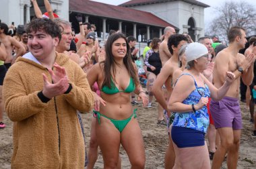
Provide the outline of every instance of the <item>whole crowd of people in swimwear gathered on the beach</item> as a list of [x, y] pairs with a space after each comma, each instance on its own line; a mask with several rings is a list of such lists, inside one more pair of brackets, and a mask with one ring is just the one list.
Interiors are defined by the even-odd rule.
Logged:
[[[150, 109], [154, 97], [157, 125], [166, 125], [169, 138], [165, 168], [211, 168], [210, 160], [212, 168], [221, 168], [226, 154], [228, 168], [236, 168], [243, 128], [241, 82], [250, 94], [251, 121], [256, 121], [256, 38], [240, 54], [247, 43], [243, 27], [230, 28], [228, 46], [218, 36], [193, 42], [166, 27], [138, 56], [135, 37], [111, 30], [101, 46], [96, 25], [83, 23], [82, 15], [76, 17], [75, 34], [48, 0], [44, 14], [31, 1], [36, 18], [30, 23], [17, 28], [0, 23], [0, 128], [5, 128], [5, 112], [13, 121], [11, 168], [94, 168], [98, 147], [104, 168], [121, 168], [120, 146], [131, 168], [145, 168], [134, 106]], [[88, 112], [87, 152], [80, 113]]]

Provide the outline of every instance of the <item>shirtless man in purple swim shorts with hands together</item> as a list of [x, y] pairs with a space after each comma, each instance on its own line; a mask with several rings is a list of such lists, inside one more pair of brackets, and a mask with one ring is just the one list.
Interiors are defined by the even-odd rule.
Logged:
[[214, 85], [222, 87], [226, 79], [226, 72], [233, 72], [236, 76], [225, 97], [216, 102], [212, 100], [210, 111], [214, 124], [220, 134], [220, 146], [214, 154], [212, 169], [222, 167], [222, 162], [228, 153], [228, 168], [236, 168], [238, 150], [242, 129], [241, 109], [238, 103], [239, 85], [242, 78], [245, 85], [250, 85], [253, 80], [253, 62], [255, 61], [256, 48], [246, 58], [238, 54], [245, 48], [247, 42], [243, 27], [231, 27], [228, 32], [229, 46], [216, 56], [214, 66]]

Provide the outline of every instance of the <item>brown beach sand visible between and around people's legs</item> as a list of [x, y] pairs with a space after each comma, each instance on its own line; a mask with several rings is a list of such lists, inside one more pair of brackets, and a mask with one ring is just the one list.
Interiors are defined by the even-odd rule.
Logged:
[[[168, 146], [168, 135], [166, 126], [157, 125], [157, 103], [153, 103], [152, 108], [143, 108], [140, 105], [137, 108], [137, 119], [141, 127], [145, 149], [146, 149], [146, 168], [164, 168], [164, 154]], [[245, 103], [241, 103], [243, 114], [243, 131], [241, 135], [241, 146], [239, 150], [237, 168], [256, 168], [256, 138], [251, 137], [253, 124], [249, 122], [249, 110], [245, 109]], [[90, 142], [90, 121], [92, 114], [82, 114], [84, 128], [86, 131], [86, 147], [88, 150]], [[12, 122], [4, 115], [4, 122], [7, 127], [0, 129], [0, 168], [11, 168], [12, 155]], [[103, 160], [98, 151], [98, 160], [95, 168], [103, 168]], [[120, 156], [122, 168], [131, 168], [129, 158], [121, 147]], [[227, 168], [226, 161], [223, 162], [222, 168]]]

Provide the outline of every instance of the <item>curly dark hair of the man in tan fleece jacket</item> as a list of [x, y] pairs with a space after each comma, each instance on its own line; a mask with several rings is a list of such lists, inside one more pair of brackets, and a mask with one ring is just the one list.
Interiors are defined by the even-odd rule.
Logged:
[[63, 28], [52, 19], [36, 18], [26, 26], [26, 32], [28, 34], [40, 30], [44, 31], [46, 34], [49, 34], [52, 38], [58, 37], [59, 41], [61, 41], [61, 32], [63, 32]]

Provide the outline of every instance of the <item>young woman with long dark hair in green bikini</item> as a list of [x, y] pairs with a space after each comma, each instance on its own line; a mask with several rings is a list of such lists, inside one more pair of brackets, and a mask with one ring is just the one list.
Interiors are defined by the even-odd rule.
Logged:
[[106, 60], [95, 64], [87, 76], [91, 86], [97, 82], [101, 89], [100, 97], [95, 94], [94, 117], [98, 121], [96, 135], [104, 168], [117, 168], [121, 144], [129, 156], [131, 168], [144, 168], [143, 138], [131, 105], [131, 93], [139, 95], [144, 106], [148, 104], [148, 97], [139, 84], [125, 36], [111, 35], [105, 48]]

